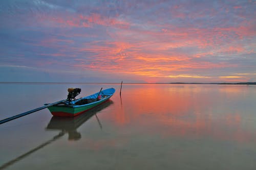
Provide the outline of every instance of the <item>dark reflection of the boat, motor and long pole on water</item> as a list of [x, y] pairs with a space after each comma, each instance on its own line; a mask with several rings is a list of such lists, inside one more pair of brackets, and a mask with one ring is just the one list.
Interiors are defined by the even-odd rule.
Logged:
[[[38, 147], [30, 150], [29, 152], [18, 156], [17, 158], [4, 163], [2, 166], [0, 166], [0, 169], [4, 169], [15, 162], [22, 160], [23, 158], [29, 156], [30, 154], [34, 153], [35, 151], [45, 147], [46, 145], [52, 143], [53, 141], [59, 139], [66, 133], [69, 134], [69, 140], [78, 140], [81, 138], [81, 134], [77, 132], [77, 128], [80, 127], [83, 123], [85, 123], [87, 120], [89, 120], [93, 115], [96, 115], [97, 112], [101, 111], [102, 109], [110, 106], [113, 104], [113, 101], [109, 100], [106, 101], [105, 103], [102, 103], [101, 105], [87, 111], [84, 114], [80, 114], [76, 117], [55, 117], [53, 116], [47, 126], [47, 130], [60, 130], [59, 134], [54, 136], [52, 139], [40, 144]], [[97, 115], [96, 115], [97, 117]], [[99, 122], [99, 119], [97, 117], [98, 123], [100, 128], [102, 128], [102, 125]]]

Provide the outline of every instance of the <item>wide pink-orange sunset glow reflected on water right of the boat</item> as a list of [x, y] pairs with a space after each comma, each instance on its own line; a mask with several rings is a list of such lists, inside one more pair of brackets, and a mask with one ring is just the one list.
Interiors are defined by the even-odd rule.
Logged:
[[243, 93], [244, 88], [236, 86], [131, 85], [123, 90], [122, 105], [116, 105], [118, 111], [112, 115], [117, 126], [138, 126], [138, 130], [164, 138], [178, 135], [256, 141], [255, 132], [242, 126], [243, 113], [232, 109], [239, 100], [232, 97]]

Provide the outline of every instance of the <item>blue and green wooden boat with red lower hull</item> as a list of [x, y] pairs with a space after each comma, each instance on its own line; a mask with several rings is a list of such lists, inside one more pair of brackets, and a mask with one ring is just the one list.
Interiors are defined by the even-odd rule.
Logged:
[[48, 109], [54, 116], [74, 117], [108, 101], [114, 93], [114, 88], [108, 88], [71, 102], [50, 106]]

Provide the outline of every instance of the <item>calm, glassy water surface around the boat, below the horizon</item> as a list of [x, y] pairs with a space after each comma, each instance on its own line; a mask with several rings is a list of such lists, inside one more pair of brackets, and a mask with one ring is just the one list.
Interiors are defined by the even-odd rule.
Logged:
[[0, 84], [0, 119], [114, 87], [73, 118], [0, 125], [0, 169], [256, 169], [255, 85]]

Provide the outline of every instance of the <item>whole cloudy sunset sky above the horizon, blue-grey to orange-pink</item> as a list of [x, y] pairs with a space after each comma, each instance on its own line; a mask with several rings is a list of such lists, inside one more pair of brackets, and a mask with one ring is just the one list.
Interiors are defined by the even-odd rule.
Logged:
[[256, 1], [0, 2], [0, 82], [256, 82]]

